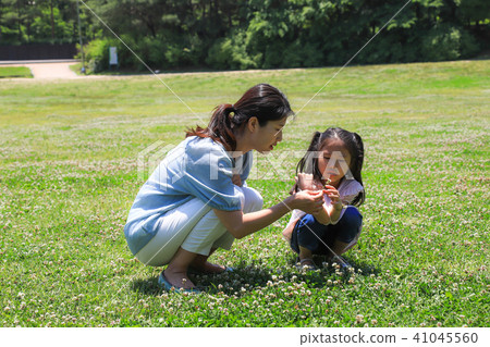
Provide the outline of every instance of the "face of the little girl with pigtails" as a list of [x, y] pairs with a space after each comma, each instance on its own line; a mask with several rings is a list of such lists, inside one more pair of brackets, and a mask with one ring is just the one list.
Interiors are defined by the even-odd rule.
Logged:
[[339, 187], [341, 179], [351, 168], [351, 153], [340, 138], [323, 140], [318, 158], [318, 169], [322, 173], [323, 183], [330, 178], [330, 185]]

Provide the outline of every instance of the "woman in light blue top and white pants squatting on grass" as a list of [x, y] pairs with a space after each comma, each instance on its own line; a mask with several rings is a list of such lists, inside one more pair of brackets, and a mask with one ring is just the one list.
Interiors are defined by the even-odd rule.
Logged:
[[282, 140], [293, 111], [277, 88], [259, 84], [235, 104], [215, 109], [207, 128], [196, 127], [170, 151], [139, 190], [124, 235], [145, 264], [168, 264], [159, 276], [167, 289], [198, 292], [189, 269], [220, 273], [208, 262], [219, 247], [253, 234], [291, 210], [319, 211], [322, 191], [298, 191], [262, 208], [259, 193], [245, 185], [255, 149], [268, 152]]

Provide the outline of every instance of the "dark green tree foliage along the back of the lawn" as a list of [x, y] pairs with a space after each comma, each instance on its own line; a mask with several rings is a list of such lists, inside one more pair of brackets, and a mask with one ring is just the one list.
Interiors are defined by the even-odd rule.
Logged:
[[[470, 58], [488, 47], [487, 0], [85, 0], [90, 70], [270, 69]], [[112, 30], [108, 29], [107, 26]], [[119, 38], [125, 44], [123, 44]], [[76, 42], [75, 0], [0, 0], [0, 45]]]

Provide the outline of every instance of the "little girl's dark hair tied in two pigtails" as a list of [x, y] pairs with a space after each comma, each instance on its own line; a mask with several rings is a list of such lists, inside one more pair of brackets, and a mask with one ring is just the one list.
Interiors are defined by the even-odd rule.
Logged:
[[[363, 139], [357, 133], [351, 133], [341, 127], [329, 127], [323, 133], [316, 132], [314, 134], [305, 157], [297, 163], [296, 174], [307, 172], [311, 173], [315, 179], [322, 181], [323, 173], [318, 169], [318, 156], [316, 153], [321, 150], [323, 141], [329, 138], [338, 138], [345, 144], [345, 147], [351, 154], [351, 165], [348, 169], [351, 170], [354, 179], [364, 187], [363, 176], [360, 174], [364, 163]], [[345, 176], [342, 179], [345, 179]], [[353, 206], [360, 206], [364, 202], [365, 197], [365, 191], [360, 191], [351, 203]]]

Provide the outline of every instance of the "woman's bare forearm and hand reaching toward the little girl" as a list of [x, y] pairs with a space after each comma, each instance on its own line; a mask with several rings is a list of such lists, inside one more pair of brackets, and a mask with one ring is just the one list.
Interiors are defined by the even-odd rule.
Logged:
[[298, 209], [306, 213], [316, 213], [322, 209], [323, 193], [298, 191], [278, 205], [256, 212], [222, 211], [213, 209], [220, 222], [235, 238], [243, 238], [272, 224], [291, 210]]

